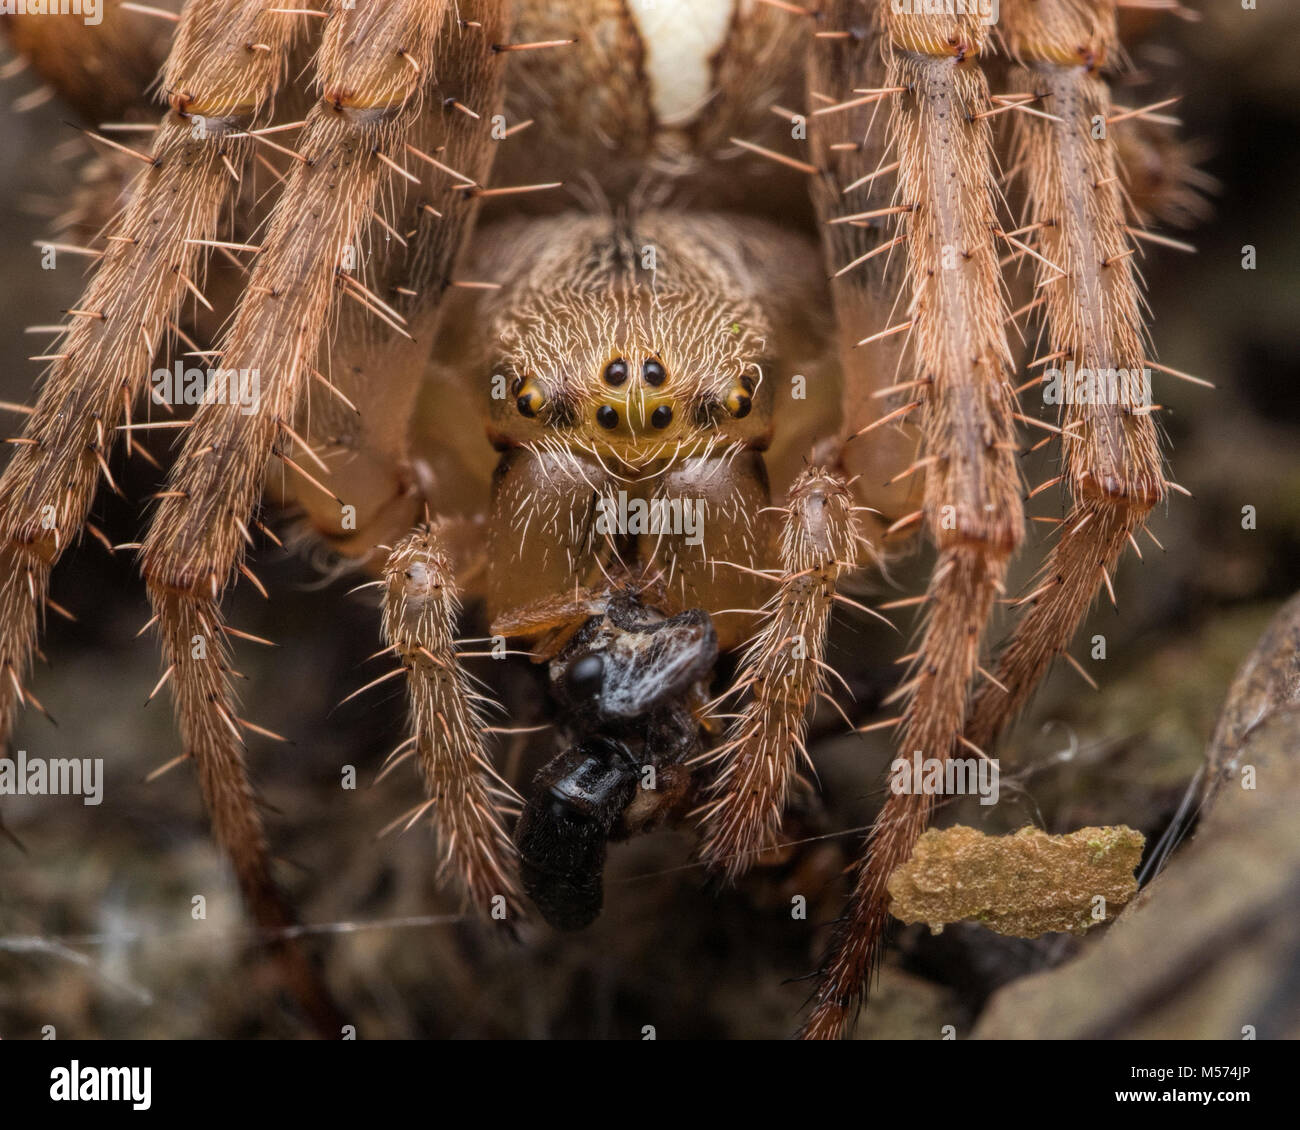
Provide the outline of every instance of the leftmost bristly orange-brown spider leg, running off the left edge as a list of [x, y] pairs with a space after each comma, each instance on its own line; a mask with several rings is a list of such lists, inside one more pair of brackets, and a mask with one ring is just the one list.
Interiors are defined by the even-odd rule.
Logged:
[[[222, 29], [213, 35], [213, 29]], [[0, 740], [13, 732], [49, 571], [81, 533], [126, 407], [144, 389], [170, 317], [202, 280], [202, 241], [217, 234], [247, 129], [269, 103], [292, 17], [238, 0], [186, 8], [164, 72], [162, 117], [121, 217], [112, 225], [40, 398], [0, 477]], [[248, 42], [266, 44], [250, 51]], [[196, 131], [202, 114], [205, 130]], [[199, 133], [203, 135], [200, 137]]]

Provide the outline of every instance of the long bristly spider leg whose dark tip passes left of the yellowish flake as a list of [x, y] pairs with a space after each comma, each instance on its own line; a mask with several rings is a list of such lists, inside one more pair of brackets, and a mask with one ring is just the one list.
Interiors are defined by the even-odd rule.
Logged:
[[[988, 85], [976, 59], [987, 27], [974, 16], [897, 12], [883, 4], [889, 135], [898, 172], [900, 237], [920, 410], [924, 523], [939, 555], [920, 645], [897, 696], [898, 750], [945, 759], [961, 737], [980, 641], [1008, 560], [1022, 537], [1014, 399], [998, 274]], [[852, 1022], [879, 960], [885, 883], [928, 823], [933, 797], [892, 793], [867, 840], [802, 1030], [833, 1038]]]

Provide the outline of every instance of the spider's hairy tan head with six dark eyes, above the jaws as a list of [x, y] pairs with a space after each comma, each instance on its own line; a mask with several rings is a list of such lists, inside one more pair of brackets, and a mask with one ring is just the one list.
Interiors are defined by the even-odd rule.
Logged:
[[633, 464], [766, 446], [768, 329], [737, 265], [702, 241], [647, 242], [653, 225], [585, 220], [580, 233], [538, 248], [495, 300], [494, 442]]

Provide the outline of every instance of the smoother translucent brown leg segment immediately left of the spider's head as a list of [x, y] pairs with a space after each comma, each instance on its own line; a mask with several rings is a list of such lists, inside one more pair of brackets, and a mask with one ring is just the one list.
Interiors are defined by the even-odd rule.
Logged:
[[[504, 56], [489, 48], [502, 38], [497, 20], [452, 31], [438, 49], [438, 90], [428, 96], [437, 104], [412, 125], [403, 159], [420, 186], [390, 177], [400, 186], [399, 199], [386, 222], [376, 221], [368, 246], [355, 248], [356, 270], [343, 280], [347, 300], [333, 307], [329, 348], [299, 397], [296, 430], [322, 453], [326, 466], [308, 454], [317, 482], [291, 469], [281, 479], [315, 532], [347, 557], [373, 554], [377, 545], [404, 537], [420, 519], [429, 480], [437, 482], [437, 494], [446, 489], [439, 469], [446, 469], [445, 449], [452, 445], [437, 436], [430, 441], [430, 421], [420, 420], [419, 401], [425, 384], [439, 380], [429, 372], [436, 329], [441, 333], [450, 322], [458, 334], [468, 333], [484, 317], [473, 299], [486, 291], [462, 289], [454, 273], [486, 286], [504, 273], [499, 264], [485, 270], [460, 259], [498, 144], [486, 135]], [[452, 103], [481, 112], [471, 117]], [[396, 150], [400, 156], [402, 147]], [[400, 332], [387, 332], [394, 326]], [[434, 352], [443, 372], [478, 363], [477, 356], [443, 356], [445, 350], [450, 347], [439, 338]], [[465, 403], [463, 386], [452, 389], [443, 377], [434, 432], [462, 427], [460, 414], [476, 408], [477, 401]], [[294, 458], [306, 466], [296, 453]], [[430, 505], [439, 508], [436, 499]]]

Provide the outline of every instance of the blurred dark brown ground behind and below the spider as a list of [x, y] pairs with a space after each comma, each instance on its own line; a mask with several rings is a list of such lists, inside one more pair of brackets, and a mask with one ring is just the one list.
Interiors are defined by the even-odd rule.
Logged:
[[[1209, 393], [1157, 377], [1167, 406], [1174, 495], [1152, 523], [1165, 546], [1145, 544], [1115, 577], [1119, 611], [1097, 609], [1074, 649], [1101, 692], [1058, 670], [1000, 750], [1004, 801], [944, 814], [988, 831], [1026, 822], [1050, 831], [1128, 823], [1153, 843], [1169, 824], [1201, 762], [1234, 670], [1270, 612], [1300, 586], [1300, 319], [1294, 222], [1300, 151], [1300, 73], [1290, 46], [1300, 12], [1243, 12], [1236, 0], [1197, 4], [1200, 23], [1166, 20], [1160, 43], [1176, 51], [1169, 85], [1184, 94], [1184, 134], [1205, 143], [1204, 168], [1222, 183], [1214, 218], [1191, 238], [1195, 256], [1152, 248], [1143, 263], [1152, 330], [1164, 364], [1206, 377]], [[1138, 61], [1156, 65], [1165, 55]], [[0, 90], [21, 99], [30, 78]], [[1164, 87], [1161, 87], [1164, 90]], [[1161, 96], [1152, 95], [1150, 100]], [[78, 294], [81, 263], [39, 269], [31, 239], [69, 205], [82, 144], [56, 104], [0, 112], [0, 399], [27, 402], [39, 364], [25, 360], [46, 338], [23, 334], [58, 320]], [[60, 160], [60, 156], [65, 157]], [[1178, 234], [1178, 233], [1173, 233]], [[1258, 268], [1242, 269], [1243, 246]], [[10, 433], [17, 424], [10, 425]], [[160, 454], [165, 450], [155, 445]], [[1048, 456], [1027, 480], [1056, 472]], [[100, 498], [96, 520], [114, 542], [134, 541], [139, 499], [155, 486], [139, 460], [122, 468], [130, 502]], [[1244, 506], [1256, 529], [1243, 529]], [[1035, 514], [1057, 515], [1052, 495]], [[1031, 528], [1022, 580], [1044, 546]], [[914, 592], [919, 564], [898, 573]], [[270, 808], [272, 843], [302, 919], [322, 926], [313, 947], [361, 1036], [784, 1036], [809, 986], [824, 927], [844, 891], [837, 878], [879, 800], [888, 763], [879, 735], [844, 737], [822, 716], [814, 752], [824, 811], [810, 811], [807, 845], [790, 863], [718, 892], [690, 866], [684, 834], [663, 832], [614, 848], [606, 912], [577, 936], [541, 926], [523, 944], [497, 943], [462, 921], [434, 884], [420, 832], [377, 840], [419, 795], [404, 767], [372, 787], [384, 756], [403, 737], [396, 689], [334, 709], [377, 671], [363, 666], [378, 644], [377, 618], [347, 584], [321, 589], [303, 562], [265, 549], [257, 572], [274, 594], [247, 585], [231, 623], [283, 646], [239, 649], [248, 683], [246, 716], [290, 736], [255, 741], [255, 778]], [[78, 615], [55, 619], [48, 668], [34, 688], [57, 728], [29, 711], [16, 748], [44, 757], [103, 757], [104, 802], [75, 797], [6, 798], [4, 818], [20, 853], [0, 841], [0, 1035], [292, 1036], [303, 1029], [268, 983], [247, 943], [231, 882], [212, 848], [188, 767], [146, 784], [176, 756], [165, 697], [143, 709], [157, 677], [152, 642], [135, 638], [148, 618], [129, 555], [109, 558], [88, 541], [55, 575], [53, 596]], [[1106, 658], [1089, 659], [1096, 635]], [[858, 714], [893, 679], [897, 637], [870, 623], [837, 632], [832, 661], [858, 697]], [[395, 685], [395, 684], [394, 684]], [[540, 713], [532, 672], [503, 688], [520, 724]], [[537, 752], [503, 750], [515, 782]], [[339, 787], [355, 766], [360, 787]], [[207, 919], [190, 917], [204, 895]], [[793, 921], [790, 896], [809, 900]], [[1300, 908], [1294, 908], [1300, 909]], [[1080, 947], [1065, 936], [1028, 943], [976, 927], [931, 938], [901, 931], [862, 1036], [936, 1038], [946, 1023], [970, 1032], [1000, 984], [1046, 969]], [[1279, 971], [1280, 975], [1280, 971]], [[1231, 1035], [1228, 1017], [1225, 1023]]]

